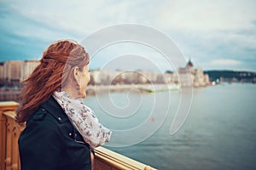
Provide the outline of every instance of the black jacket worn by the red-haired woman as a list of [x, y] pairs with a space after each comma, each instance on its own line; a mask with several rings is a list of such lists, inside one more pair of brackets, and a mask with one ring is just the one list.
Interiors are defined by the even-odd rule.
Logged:
[[89, 144], [53, 97], [26, 122], [19, 150], [21, 170], [91, 169]]

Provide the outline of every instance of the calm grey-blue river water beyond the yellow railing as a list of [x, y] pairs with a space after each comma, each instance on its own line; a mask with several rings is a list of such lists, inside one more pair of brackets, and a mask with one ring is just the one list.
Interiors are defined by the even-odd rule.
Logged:
[[[106, 127], [127, 129], [147, 119], [148, 113], [153, 110], [154, 99], [166, 100], [167, 93], [130, 93], [128, 98], [125, 93], [113, 93], [111, 99], [109, 95], [101, 94], [88, 96], [84, 102]], [[113, 147], [107, 144], [106, 147], [158, 169], [256, 169], [255, 84], [220, 83], [207, 88], [194, 88], [189, 116], [173, 135], [169, 133], [170, 125], [177, 111], [180, 92], [172, 91], [171, 96], [171, 109], [167, 116], [162, 117], [166, 117], [165, 122], [149, 138], [130, 146]], [[109, 111], [104, 109], [102, 103], [111, 105], [109, 101], [118, 105], [119, 109], [123, 108], [122, 116], [109, 114], [111, 108]], [[162, 103], [160, 107], [156, 106], [158, 114], [166, 111], [165, 101]], [[132, 107], [124, 109], [125, 105], [137, 107], [137, 104], [140, 104], [137, 110]], [[125, 115], [131, 111], [133, 115]], [[150, 120], [152, 123], [158, 121], [154, 116]], [[147, 132], [147, 127], [144, 132]]]

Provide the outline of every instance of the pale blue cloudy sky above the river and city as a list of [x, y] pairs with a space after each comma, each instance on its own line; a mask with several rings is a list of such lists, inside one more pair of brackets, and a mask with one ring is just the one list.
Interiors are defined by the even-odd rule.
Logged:
[[[254, 0], [0, 0], [0, 62], [40, 59], [56, 40], [82, 42], [109, 26], [137, 24], [172, 39], [184, 59], [191, 59], [195, 67], [256, 71], [255, 8]], [[131, 54], [147, 55], [158, 62], [158, 67], [168, 70], [165, 59], [154, 48], [140, 48], [141, 44], [135, 43], [113, 46], [92, 59], [92, 69], [102, 67], [113, 55], [129, 54], [127, 49], [132, 48]]]

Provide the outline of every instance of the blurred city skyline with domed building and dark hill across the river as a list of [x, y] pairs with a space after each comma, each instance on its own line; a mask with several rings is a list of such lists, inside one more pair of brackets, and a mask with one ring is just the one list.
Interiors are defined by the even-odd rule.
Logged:
[[[39, 60], [9, 60], [0, 63], [0, 84], [20, 85], [32, 71], [40, 64]], [[138, 84], [138, 83], [178, 83], [182, 86], [202, 87], [210, 82], [253, 82], [256, 72], [252, 71], [203, 71], [201, 67], [194, 67], [191, 60], [185, 67], [177, 71], [155, 72], [148, 70], [90, 70], [91, 84]], [[192, 78], [192, 80], [191, 80]], [[192, 83], [193, 82], [193, 83]]]

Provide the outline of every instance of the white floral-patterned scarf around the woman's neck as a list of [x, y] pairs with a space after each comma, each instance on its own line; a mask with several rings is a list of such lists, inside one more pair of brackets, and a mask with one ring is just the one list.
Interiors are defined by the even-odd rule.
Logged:
[[83, 136], [84, 141], [94, 149], [108, 142], [111, 131], [96, 118], [94, 112], [80, 99], [72, 99], [66, 92], [55, 92], [53, 97], [61, 105], [73, 126]]

